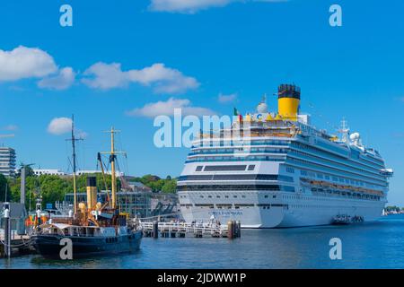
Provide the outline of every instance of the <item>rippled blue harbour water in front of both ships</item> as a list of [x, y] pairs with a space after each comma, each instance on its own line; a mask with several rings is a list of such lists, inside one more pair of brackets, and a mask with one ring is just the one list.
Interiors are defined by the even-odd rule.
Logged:
[[[329, 239], [342, 240], [342, 259], [329, 259]], [[404, 214], [378, 222], [277, 230], [242, 230], [240, 239], [142, 241], [119, 257], [72, 261], [31, 255], [0, 259], [0, 268], [404, 268]]]

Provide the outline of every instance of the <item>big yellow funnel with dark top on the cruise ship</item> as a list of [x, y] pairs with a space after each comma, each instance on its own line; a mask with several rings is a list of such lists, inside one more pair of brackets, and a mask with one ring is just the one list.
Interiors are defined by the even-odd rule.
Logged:
[[297, 120], [300, 108], [300, 88], [294, 84], [277, 87], [277, 113], [289, 120]]

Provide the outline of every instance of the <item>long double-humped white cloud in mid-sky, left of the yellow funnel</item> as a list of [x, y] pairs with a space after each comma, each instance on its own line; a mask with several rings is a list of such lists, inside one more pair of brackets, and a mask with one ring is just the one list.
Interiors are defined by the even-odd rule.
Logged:
[[83, 83], [94, 89], [108, 90], [126, 87], [129, 83], [152, 86], [155, 92], [180, 93], [197, 89], [198, 81], [182, 74], [179, 70], [158, 63], [141, 70], [122, 71], [119, 63], [102, 62], [90, 66], [84, 75], [89, 76]]

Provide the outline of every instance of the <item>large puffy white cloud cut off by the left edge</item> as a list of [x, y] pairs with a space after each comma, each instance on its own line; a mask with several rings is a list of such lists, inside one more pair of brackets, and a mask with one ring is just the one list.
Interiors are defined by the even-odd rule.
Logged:
[[0, 49], [0, 81], [40, 78], [56, 71], [53, 57], [40, 48], [19, 46], [11, 51]]

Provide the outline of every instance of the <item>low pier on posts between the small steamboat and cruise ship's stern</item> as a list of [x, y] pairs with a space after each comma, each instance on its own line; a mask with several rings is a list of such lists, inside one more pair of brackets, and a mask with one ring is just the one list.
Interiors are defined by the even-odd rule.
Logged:
[[241, 237], [241, 223], [230, 221], [220, 225], [215, 223], [186, 222], [140, 222], [145, 237], [185, 238], [187, 235], [196, 238], [213, 237], [235, 239]]

